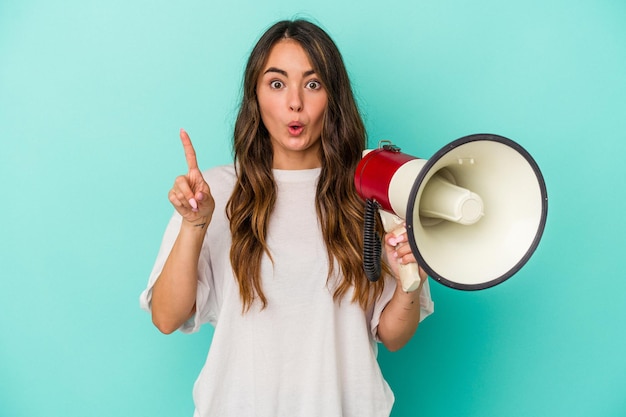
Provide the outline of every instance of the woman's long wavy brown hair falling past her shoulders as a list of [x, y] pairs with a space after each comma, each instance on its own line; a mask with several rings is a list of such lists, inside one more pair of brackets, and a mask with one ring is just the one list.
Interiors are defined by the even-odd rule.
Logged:
[[[270, 27], [253, 48], [247, 62], [243, 97], [234, 130], [237, 183], [226, 211], [230, 220], [230, 260], [239, 283], [243, 310], [255, 299], [266, 307], [261, 259], [272, 259], [266, 236], [276, 201], [272, 174], [273, 151], [259, 111], [257, 81], [270, 49], [282, 39], [297, 41], [326, 89], [328, 104], [321, 135], [321, 173], [316, 210], [328, 251], [328, 278], [340, 272], [333, 297], [341, 300], [354, 288], [352, 302], [364, 309], [380, 296], [383, 280], [370, 283], [364, 275], [364, 203], [356, 193], [354, 172], [366, 145], [366, 132], [343, 59], [333, 40], [305, 20], [281, 21]], [[335, 261], [340, 271], [335, 271]]]

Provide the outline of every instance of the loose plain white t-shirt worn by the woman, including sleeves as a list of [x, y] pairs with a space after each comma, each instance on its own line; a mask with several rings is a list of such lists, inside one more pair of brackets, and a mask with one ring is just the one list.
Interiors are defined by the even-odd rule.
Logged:
[[[364, 311], [352, 293], [337, 303], [327, 282], [328, 256], [315, 211], [320, 169], [274, 170], [278, 195], [267, 233], [274, 264], [261, 265], [268, 305], [242, 314], [230, 265], [225, 205], [235, 182], [233, 166], [204, 176], [215, 199], [198, 262], [196, 314], [181, 327], [215, 332], [195, 383], [194, 417], [386, 417], [394, 396], [376, 355], [380, 314], [395, 290], [386, 277], [381, 298]], [[181, 217], [172, 217], [140, 304], [150, 311], [152, 286], [174, 244]], [[428, 283], [421, 318], [433, 312]]]

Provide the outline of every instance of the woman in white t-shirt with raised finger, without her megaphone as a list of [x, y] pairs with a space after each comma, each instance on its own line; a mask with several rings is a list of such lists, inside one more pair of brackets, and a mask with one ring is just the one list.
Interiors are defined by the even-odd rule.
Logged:
[[401, 348], [432, 301], [423, 271], [415, 292], [396, 285], [406, 235], [385, 237], [382, 279], [364, 276], [365, 129], [333, 41], [302, 20], [260, 38], [233, 165], [203, 174], [181, 140], [189, 171], [141, 304], [164, 333], [215, 326], [195, 416], [388, 416], [377, 342]]

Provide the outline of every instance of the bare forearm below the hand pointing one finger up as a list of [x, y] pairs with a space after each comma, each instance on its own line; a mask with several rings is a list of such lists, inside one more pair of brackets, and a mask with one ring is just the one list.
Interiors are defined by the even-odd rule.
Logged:
[[208, 220], [183, 221], [174, 246], [152, 289], [152, 321], [172, 333], [195, 312], [198, 259]]

